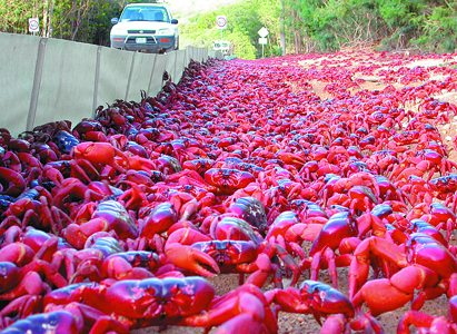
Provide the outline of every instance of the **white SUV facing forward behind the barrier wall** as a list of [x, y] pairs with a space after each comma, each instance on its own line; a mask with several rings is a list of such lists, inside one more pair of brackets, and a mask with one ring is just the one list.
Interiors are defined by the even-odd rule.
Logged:
[[120, 18], [111, 19], [111, 48], [150, 53], [179, 49], [178, 20], [163, 4], [127, 4]]

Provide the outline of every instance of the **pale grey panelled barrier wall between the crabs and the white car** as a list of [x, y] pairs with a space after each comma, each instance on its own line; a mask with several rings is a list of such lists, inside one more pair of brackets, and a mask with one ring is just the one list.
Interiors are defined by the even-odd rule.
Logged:
[[157, 96], [163, 71], [173, 82], [190, 60], [208, 50], [188, 47], [167, 55], [115, 50], [61, 39], [0, 32], [0, 128], [12, 136], [50, 121], [93, 118], [117, 99]]

